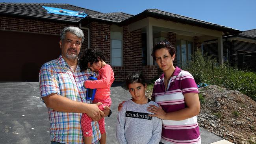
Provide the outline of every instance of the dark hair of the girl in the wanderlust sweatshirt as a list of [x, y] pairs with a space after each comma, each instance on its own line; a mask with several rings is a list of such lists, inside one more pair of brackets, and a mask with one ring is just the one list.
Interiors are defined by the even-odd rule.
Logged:
[[128, 85], [131, 83], [141, 83], [143, 86], [146, 85], [145, 78], [143, 77], [141, 72], [132, 72], [129, 74], [126, 78], [126, 88], [128, 88]]

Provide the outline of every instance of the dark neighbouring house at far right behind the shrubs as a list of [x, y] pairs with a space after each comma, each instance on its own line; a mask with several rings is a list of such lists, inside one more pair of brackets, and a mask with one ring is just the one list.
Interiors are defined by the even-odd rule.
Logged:
[[[218, 59], [215, 40], [203, 42], [203, 52]], [[224, 62], [243, 70], [256, 71], [256, 29], [223, 37]]]

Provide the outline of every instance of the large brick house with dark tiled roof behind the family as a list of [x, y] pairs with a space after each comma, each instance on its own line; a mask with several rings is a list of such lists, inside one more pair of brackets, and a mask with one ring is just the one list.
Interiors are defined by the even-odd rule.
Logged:
[[[47, 13], [42, 6], [84, 11], [87, 16]], [[15, 11], [15, 7], [24, 11]], [[212, 49], [223, 64], [226, 45], [223, 35], [241, 33], [158, 9], [147, 9], [134, 16], [122, 12], [100, 13], [69, 4], [0, 3], [1, 43], [5, 47], [1, 63], [7, 69], [0, 74], [0, 81], [38, 81], [41, 65], [60, 54], [59, 33], [65, 26], [78, 26], [84, 31], [85, 41], [80, 54], [85, 48], [105, 52], [115, 81], [124, 81], [135, 71], [142, 71], [146, 79], [157, 76], [159, 70], [151, 57], [151, 49], [164, 39], [176, 47], [174, 65], [186, 66], [191, 54], [197, 48], [206, 48], [204, 43], [213, 39], [216, 41]]]

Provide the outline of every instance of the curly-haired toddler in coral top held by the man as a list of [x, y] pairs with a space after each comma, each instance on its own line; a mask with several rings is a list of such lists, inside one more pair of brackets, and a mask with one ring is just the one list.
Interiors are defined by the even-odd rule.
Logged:
[[[96, 49], [87, 49], [79, 61], [81, 72], [89, 68], [93, 72], [98, 72], [98, 80], [85, 81], [83, 86], [89, 89], [96, 89], [95, 99], [93, 102], [102, 102], [99, 106], [100, 110], [104, 110], [104, 106], [111, 105], [110, 87], [114, 81], [114, 72], [110, 65], [105, 62], [105, 55], [102, 51]], [[83, 131], [83, 139], [85, 144], [91, 144], [92, 127], [91, 118], [87, 114], [83, 114], [81, 118], [81, 127]], [[105, 119], [98, 121], [101, 133], [100, 144], [106, 144]]]

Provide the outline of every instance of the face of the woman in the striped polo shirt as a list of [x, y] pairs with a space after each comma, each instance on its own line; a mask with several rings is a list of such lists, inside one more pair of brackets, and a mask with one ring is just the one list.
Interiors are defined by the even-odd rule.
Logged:
[[169, 53], [167, 48], [161, 48], [159, 50], [156, 50], [156, 63], [158, 64], [159, 68], [163, 70], [163, 72], [167, 70], [171, 70], [173, 66], [173, 61], [175, 54], [173, 54], [173, 57]]

